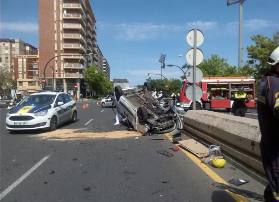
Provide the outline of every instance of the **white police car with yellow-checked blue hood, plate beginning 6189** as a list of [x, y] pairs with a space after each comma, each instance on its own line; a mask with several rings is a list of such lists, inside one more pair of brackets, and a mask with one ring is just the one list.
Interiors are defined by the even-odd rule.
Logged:
[[75, 101], [67, 93], [40, 92], [25, 97], [6, 115], [10, 131], [47, 128], [51, 131], [67, 121], [77, 121]]

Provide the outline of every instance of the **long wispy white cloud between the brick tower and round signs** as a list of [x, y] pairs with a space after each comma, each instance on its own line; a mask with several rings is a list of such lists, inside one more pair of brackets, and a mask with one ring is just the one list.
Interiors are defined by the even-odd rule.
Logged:
[[193, 28], [202, 30], [213, 29], [217, 27], [217, 22], [196, 21], [184, 25], [175, 24], [154, 24], [154, 23], [99, 23], [101, 29], [116, 29], [116, 37], [121, 40], [150, 40], [162, 35], [173, 34], [177, 31], [187, 31]]

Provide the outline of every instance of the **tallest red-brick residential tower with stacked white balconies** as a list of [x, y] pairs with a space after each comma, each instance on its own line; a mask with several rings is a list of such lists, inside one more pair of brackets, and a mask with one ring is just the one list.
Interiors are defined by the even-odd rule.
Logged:
[[80, 92], [85, 95], [82, 74], [87, 65], [97, 63], [96, 20], [89, 1], [39, 0], [38, 5], [40, 77], [47, 62], [58, 56], [47, 65], [53, 66], [53, 70], [45, 71], [46, 87], [63, 89], [75, 96], [74, 86], [79, 85], [80, 78]]

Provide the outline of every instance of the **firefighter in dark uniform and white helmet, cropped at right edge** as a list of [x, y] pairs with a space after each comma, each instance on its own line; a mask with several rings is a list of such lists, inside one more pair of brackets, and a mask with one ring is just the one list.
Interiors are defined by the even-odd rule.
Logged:
[[271, 70], [264, 74], [258, 89], [258, 120], [260, 151], [269, 185], [265, 188], [265, 201], [279, 201], [279, 46], [271, 53], [267, 63]]

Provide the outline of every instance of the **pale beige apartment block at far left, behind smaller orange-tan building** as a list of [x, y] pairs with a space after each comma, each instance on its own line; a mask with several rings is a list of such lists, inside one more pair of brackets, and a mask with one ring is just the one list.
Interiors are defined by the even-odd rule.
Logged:
[[[15, 55], [37, 55], [38, 48], [25, 43], [20, 39], [0, 39], [1, 42], [1, 68], [13, 71]], [[13, 78], [15, 76], [13, 75]]]

